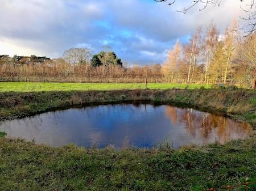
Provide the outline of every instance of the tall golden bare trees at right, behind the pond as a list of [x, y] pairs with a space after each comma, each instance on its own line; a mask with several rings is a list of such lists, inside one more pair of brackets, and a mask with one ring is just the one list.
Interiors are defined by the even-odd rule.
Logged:
[[256, 79], [256, 35], [241, 37], [236, 20], [224, 35], [211, 23], [205, 30], [198, 28], [188, 43], [177, 40], [162, 70], [165, 77], [187, 83], [200, 80], [251, 87]]

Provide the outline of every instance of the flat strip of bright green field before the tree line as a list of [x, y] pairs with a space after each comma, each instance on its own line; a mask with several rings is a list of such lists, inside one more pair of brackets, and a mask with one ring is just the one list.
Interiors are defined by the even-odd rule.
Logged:
[[[201, 84], [148, 83], [150, 89], [200, 88]], [[210, 85], [203, 85], [210, 88]], [[0, 82], [0, 92], [35, 91], [86, 91], [86, 90], [135, 90], [145, 88], [144, 83], [38, 83], [38, 82]]]

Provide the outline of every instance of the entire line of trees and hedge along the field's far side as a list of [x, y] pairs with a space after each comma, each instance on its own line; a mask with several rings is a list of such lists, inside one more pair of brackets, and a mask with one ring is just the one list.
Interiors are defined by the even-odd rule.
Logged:
[[[19, 58], [19, 59], [17, 59]], [[40, 61], [40, 62], [39, 62]], [[220, 35], [214, 23], [197, 28], [190, 39], [167, 50], [155, 65], [127, 67], [112, 50], [92, 55], [89, 48], [71, 48], [61, 58], [0, 56], [0, 77], [88, 79], [167, 79], [168, 82], [236, 84], [253, 87], [256, 78], [256, 34], [240, 36], [234, 20]], [[126, 80], [126, 81], [127, 81]]]

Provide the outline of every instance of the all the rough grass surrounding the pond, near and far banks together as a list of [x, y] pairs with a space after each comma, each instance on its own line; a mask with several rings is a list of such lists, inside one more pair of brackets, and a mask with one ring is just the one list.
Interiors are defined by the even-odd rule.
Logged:
[[[256, 92], [234, 88], [0, 92], [0, 118], [121, 101], [221, 112], [256, 128]], [[224, 146], [151, 150], [51, 148], [0, 138], [0, 190], [216, 190], [256, 181], [256, 138]], [[251, 190], [256, 189], [252, 185]], [[234, 190], [245, 190], [244, 187]]]

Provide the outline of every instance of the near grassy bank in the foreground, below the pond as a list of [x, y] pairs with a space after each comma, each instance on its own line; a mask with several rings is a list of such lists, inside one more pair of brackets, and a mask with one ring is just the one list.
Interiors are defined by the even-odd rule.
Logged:
[[255, 144], [115, 151], [0, 138], [0, 190], [226, 190], [256, 180]]

